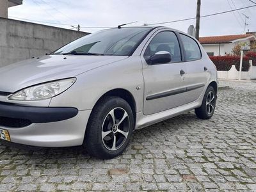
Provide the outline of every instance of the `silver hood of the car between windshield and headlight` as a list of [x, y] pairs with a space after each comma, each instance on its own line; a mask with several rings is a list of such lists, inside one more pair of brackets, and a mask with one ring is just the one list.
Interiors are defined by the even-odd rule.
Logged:
[[49, 55], [21, 61], [0, 68], [0, 92], [14, 93], [34, 84], [74, 77], [125, 58], [127, 56]]

